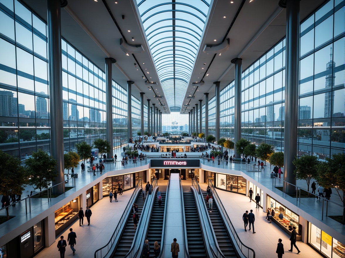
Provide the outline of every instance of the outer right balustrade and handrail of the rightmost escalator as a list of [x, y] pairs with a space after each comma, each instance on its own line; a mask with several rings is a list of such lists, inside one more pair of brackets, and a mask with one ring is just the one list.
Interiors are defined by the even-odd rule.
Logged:
[[[225, 217], [225, 219], [226, 219], [226, 221], [227, 221], [227, 223], [229, 225], [230, 231], [233, 233], [234, 240], [236, 241], [236, 244], [237, 244], [239, 250], [241, 251], [241, 253], [245, 257], [247, 257], [247, 258], [249, 258], [249, 257], [250, 258], [255, 258], [255, 251], [252, 248], [250, 248], [250, 247], [246, 246], [245, 244], [243, 244], [243, 242], [241, 241], [241, 239], [237, 235], [235, 227], [232, 224], [232, 222], [231, 222], [231, 220], [230, 220], [230, 218], [229, 218], [229, 216], [228, 216], [228, 214], [227, 214], [227, 212], [226, 212], [226, 210], [225, 210], [225, 208], [223, 206], [223, 203], [221, 202], [221, 200], [220, 200], [220, 198], [219, 198], [219, 196], [218, 196], [218, 194], [216, 192], [216, 189], [215, 189], [215, 187], [214, 187], [214, 185], [213, 185], [213, 183], [212, 183], [212, 181], [210, 179], [208, 179], [208, 185], [211, 187], [211, 191], [213, 192], [213, 194], [212, 194], [213, 198], [215, 198], [217, 200], [219, 208], [221, 209], [221, 211], [224, 214], [224, 217]], [[245, 250], [245, 252], [247, 252], [247, 255], [245, 254], [244, 250]], [[251, 254], [251, 255], [249, 256], [249, 254]]]

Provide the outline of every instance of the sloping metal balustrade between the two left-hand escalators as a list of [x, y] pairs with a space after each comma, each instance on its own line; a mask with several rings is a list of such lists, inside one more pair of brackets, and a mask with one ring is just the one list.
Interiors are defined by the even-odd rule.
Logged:
[[156, 186], [157, 186], [157, 179], [154, 179], [151, 183], [149, 191], [147, 192], [144, 207], [142, 207], [141, 216], [138, 222], [137, 231], [135, 232], [135, 235], [134, 235], [132, 246], [129, 249], [128, 253], [124, 256], [124, 258], [136, 257], [138, 255], [138, 252], [141, 250], [142, 238], [143, 238], [144, 232], [147, 231], [145, 230], [145, 228], [148, 227], [148, 225], [144, 223], [146, 223], [149, 217], [148, 215], [151, 214], [153, 202], [155, 201], [155, 195], [152, 193], [154, 193]]

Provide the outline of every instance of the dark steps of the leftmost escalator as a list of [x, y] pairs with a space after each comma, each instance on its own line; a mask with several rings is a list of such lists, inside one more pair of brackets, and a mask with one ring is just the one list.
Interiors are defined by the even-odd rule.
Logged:
[[[142, 199], [141, 191], [139, 192], [135, 203], [138, 205], [139, 212], [137, 213], [140, 219], [142, 208], [144, 207], [144, 200]], [[115, 251], [113, 252], [114, 256], [112, 257], [125, 257], [125, 255], [128, 253], [129, 249], [133, 244], [133, 239], [136, 232], [136, 230], [134, 230], [133, 214], [134, 211], [132, 209], [129, 218], [125, 222], [126, 226], [124, 227], [124, 230], [122, 230], [121, 232], [121, 241], [118, 242], [118, 245], [116, 246]]]

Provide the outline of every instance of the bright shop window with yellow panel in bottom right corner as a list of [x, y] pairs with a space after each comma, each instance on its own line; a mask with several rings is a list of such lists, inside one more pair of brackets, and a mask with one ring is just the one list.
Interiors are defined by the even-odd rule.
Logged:
[[329, 236], [315, 225], [308, 223], [308, 245], [330, 258], [345, 258], [345, 244]]

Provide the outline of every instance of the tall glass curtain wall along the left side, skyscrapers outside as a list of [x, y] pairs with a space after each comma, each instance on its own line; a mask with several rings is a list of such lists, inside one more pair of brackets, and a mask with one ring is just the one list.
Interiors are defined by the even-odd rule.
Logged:
[[[0, 0], [0, 23], [6, 24], [0, 26], [0, 149], [25, 160], [38, 146], [50, 151], [47, 25], [11, 0]], [[69, 42], [61, 43], [64, 147], [75, 151], [78, 142], [106, 137], [105, 73]], [[121, 109], [114, 110], [114, 119], [127, 120], [126, 101], [114, 99], [114, 108]], [[126, 128], [116, 124], [114, 137], [126, 139]]]

